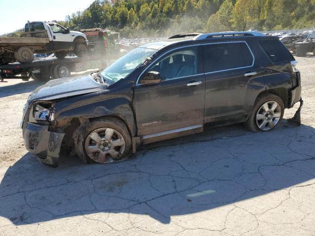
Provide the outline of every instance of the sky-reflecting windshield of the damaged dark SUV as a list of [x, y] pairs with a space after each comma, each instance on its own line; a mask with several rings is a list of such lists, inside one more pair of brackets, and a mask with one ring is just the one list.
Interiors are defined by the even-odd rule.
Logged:
[[133, 49], [100, 71], [100, 74], [105, 78], [108, 84], [113, 84], [121, 79], [125, 79], [134, 69], [156, 52], [157, 50], [149, 48]]

